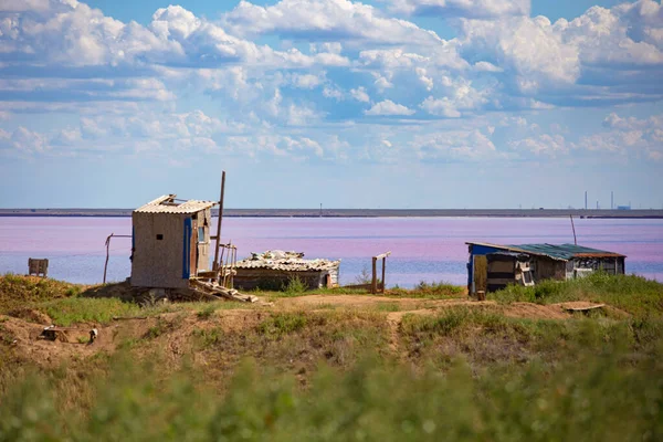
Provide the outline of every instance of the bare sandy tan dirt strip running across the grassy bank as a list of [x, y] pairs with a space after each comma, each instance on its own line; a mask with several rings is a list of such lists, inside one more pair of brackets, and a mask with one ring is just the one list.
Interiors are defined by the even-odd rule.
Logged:
[[[99, 351], [113, 352], [127, 339], [144, 339], [150, 329], [168, 328], [168, 352], [177, 358], [188, 351], [193, 330], [221, 327], [224, 330], [241, 330], [254, 327], [273, 312], [280, 311], [324, 311], [328, 308], [357, 308], [379, 311], [386, 314], [391, 329], [390, 347], [398, 347], [398, 328], [404, 315], [435, 315], [444, 308], [466, 306], [467, 308], [487, 308], [508, 317], [533, 319], [566, 319], [571, 317], [566, 308], [590, 307], [587, 302], [539, 305], [530, 303], [497, 304], [493, 301], [476, 302], [470, 298], [421, 299], [388, 298], [369, 295], [311, 295], [276, 299], [274, 305], [263, 308], [219, 309], [209, 319], [200, 318], [196, 312], [167, 313], [149, 318], [129, 318], [113, 320], [110, 324], [77, 324], [67, 327], [64, 339], [50, 341], [40, 339], [50, 318], [40, 312], [22, 312], [20, 319], [0, 315], [0, 325], [13, 337], [12, 346], [17, 354], [40, 365], [54, 365], [65, 360], [87, 358]], [[606, 306], [607, 308], [611, 308]], [[96, 327], [98, 338], [87, 344], [90, 329]]]

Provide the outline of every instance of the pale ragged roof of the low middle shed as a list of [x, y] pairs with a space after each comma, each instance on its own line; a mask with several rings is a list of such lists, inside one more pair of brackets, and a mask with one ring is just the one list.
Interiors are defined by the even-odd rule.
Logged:
[[304, 260], [304, 253], [280, 250], [252, 253], [251, 257], [238, 261], [236, 269], [269, 269], [287, 272], [329, 271], [340, 265], [340, 260]]

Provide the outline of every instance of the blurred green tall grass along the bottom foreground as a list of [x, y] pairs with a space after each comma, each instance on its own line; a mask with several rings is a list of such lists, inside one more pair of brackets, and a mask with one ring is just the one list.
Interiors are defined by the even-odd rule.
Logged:
[[366, 358], [346, 372], [322, 366], [302, 389], [249, 360], [219, 392], [196, 368], [159, 376], [158, 361], [125, 359], [84, 381], [85, 409], [63, 412], [66, 379], [6, 383], [0, 440], [656, 441], [661, 371], [603, 356], [476, 378], [462, 361], [441, 376]]

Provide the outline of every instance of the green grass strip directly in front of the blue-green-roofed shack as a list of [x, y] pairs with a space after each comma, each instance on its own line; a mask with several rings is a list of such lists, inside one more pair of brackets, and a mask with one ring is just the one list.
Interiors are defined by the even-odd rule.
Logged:
[[591, 301], [607, 303], [632, 315], [663, 314], [663, 284], [635, 275], [594, 273], [580, 280], [541, 281], [534, 287], [511, 285], [488, 293], [487, 298], [538, 304]]

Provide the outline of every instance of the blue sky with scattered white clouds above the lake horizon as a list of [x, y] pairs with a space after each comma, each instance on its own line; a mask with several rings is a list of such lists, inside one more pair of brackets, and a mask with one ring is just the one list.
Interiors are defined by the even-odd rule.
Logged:
[[663, 207], [653, 0], [0, 0], [0, 208]]

